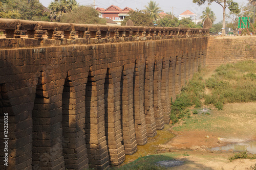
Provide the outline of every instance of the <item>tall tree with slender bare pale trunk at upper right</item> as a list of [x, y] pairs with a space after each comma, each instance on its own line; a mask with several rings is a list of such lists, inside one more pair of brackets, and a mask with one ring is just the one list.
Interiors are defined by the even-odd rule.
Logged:
[[212, 2], [219, 4], [223, 8], [223, 22], [222, 22], [222, 35], [225, 35], [225, 27], [226, 27], [226, 8], [230, 11], [236, 12], [239, 11], [238, 3], [233, 2], [232, 0], [193, 0], [193, 3], [197, 3], [199, 6], [208, 2], [210, 5]]

